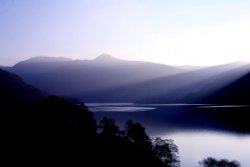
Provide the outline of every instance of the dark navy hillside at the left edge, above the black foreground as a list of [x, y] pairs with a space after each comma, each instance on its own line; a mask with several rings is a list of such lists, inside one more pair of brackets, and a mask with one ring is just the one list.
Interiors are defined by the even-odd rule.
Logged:
[[[0, 100], [2, 102], [35, 102], [48, 97], [33, 86], [27, 85], [15, 74], [0, 69]], [[5, 103], [2, 103], [5, 104]]]

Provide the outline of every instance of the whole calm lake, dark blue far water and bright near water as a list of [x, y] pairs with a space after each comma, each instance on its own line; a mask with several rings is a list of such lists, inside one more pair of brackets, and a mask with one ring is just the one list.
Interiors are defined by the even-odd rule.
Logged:
[[133, 103], [85, 105], [94, 112], [97, 121], [107, 116], [114, 118], [122, 127], [127, 120], [132, 119], [142, 123], [151, 137], [173, 139], [179, 147], [181, 166], [198, 167], [198, 161], [209, 156], [237, 160], [242, 167], [250, 166], [250, 133], [248, 120], [244, 118], [249, 106]]

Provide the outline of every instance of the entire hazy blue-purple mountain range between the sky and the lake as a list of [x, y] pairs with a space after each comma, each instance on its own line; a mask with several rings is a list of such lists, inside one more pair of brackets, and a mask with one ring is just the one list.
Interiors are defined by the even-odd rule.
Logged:
[[35, 57], [4, 69], [41, 90], [84, 102], [195, 103], [246, 75], [250, 66], [175, 67], [103, 54], [93, 60]]

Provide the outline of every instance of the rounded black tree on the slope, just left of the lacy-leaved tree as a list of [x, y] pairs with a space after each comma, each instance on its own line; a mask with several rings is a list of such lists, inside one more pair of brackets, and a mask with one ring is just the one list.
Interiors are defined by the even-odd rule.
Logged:
[[146, 149], [151, 150], [151, 140], [145, 132], [145, 128], [140, 123], [134, 123], [129, 120], [125, 124], [125, 136], [131, 142], [139, 144]]

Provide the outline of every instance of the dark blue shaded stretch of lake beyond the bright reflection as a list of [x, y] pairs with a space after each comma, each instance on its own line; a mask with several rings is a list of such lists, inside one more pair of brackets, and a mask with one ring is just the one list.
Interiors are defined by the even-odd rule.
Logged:
[[114, 118], [118, 124], [132, 119], [152, 134], [176, 129], [250, 132], [248, 105], [87, 103], [86, 106], [97, 121], [104, 116]]

